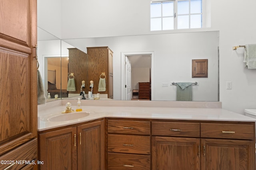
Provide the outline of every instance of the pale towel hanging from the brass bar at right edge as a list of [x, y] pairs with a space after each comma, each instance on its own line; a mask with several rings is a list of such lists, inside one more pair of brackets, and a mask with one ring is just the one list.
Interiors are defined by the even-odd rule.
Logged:
[[249, 69], [256, 68], [256, 44], [245, 45], [244, 65]]

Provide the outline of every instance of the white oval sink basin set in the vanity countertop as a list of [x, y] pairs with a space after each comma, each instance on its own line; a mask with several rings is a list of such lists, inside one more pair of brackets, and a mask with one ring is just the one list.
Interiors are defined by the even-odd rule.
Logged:
[[90, 115], [88, 112], [73, 112], [73, 113], [62, 113], [61, 115], [51, 115], [40, 118], [41, 121], [70, 121], [74, 119], [80, 119]]

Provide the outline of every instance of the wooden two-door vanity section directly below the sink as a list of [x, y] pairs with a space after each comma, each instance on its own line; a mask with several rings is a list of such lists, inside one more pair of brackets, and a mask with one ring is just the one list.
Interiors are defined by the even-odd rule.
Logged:
[[105, 169], [105, 121], [41, 132], [41, 170]]

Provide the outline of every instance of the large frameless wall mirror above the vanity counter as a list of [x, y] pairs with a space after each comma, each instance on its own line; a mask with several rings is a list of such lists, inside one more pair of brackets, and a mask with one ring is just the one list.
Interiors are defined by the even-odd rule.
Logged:
[[[48, 101], [68, 97], [77, 99], [80, 95], [67, 92], [69, 49], [75, 48], [87, 54], [88, 47], [109, 47], [113, 52], [112, 100], [126, 100], [129, 90], [131, 98], [139, 100], [136, 93], [140, 89], [139, 83], [150, 82], [150, 100], [176, 101], [177, 85], [172, 82], [197, 82], [197, 85], [192, 85], [192, 101], [219, 101], [218, 31], [61, 40], [40, 28], [38, 30], [39, 69], [44, 80], [46, 98], [50, 92]], [[200, 59], [208, 61], [208, 76], [192, 78], [192, 60]], [[86, 62], [88, 60], [78, 63], [83, 64], [81, 72], [90, 75], [93, 70], [87, 68]], [[130, 63], [131, 71], [128, 90], [127, 62]], [[84, 80], [85, 86], [89, 87], [87, 75]], [[100, 75], [94, 82], [99, 79]], [[88, 94], [88, 91], [85, 93]], [[109, 100], [108, 97], [101, 99]]]

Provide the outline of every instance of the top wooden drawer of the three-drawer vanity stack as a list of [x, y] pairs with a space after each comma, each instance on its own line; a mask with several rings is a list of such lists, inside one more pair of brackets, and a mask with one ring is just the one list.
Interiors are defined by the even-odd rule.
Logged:
[[150, 135], [150, 121], [108, 120], [108, 133]]

